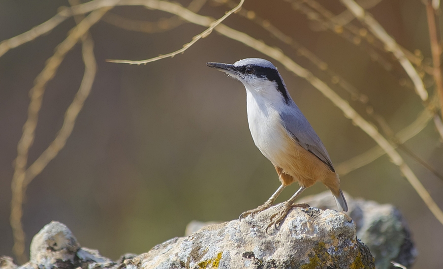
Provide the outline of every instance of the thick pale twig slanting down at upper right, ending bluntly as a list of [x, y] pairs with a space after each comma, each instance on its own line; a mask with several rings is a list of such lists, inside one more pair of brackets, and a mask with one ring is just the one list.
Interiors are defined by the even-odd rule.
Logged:
[[426, 91], [423, 81], [418, 75], [415, 68], [412, 66], [411, 62], [406, 57], [405, 53], [401, 47], [395, 42], [383, 27], [372, 17], [371, 14], [365, 12], [365, 10], [359, 6], [354, 0], [340, 0], [354, 16], [359, 19], [363, 24], [365, 24], [371, 32], [377, 36], [383, 43], [385, 48], [392, 52], [392, 54], [397, 58], [400, 64], [405, 69], [406, 73], [412, 80], [415, 87], [415, 92], [420, 96], [423, 102], [428, 100], [428, 92]]

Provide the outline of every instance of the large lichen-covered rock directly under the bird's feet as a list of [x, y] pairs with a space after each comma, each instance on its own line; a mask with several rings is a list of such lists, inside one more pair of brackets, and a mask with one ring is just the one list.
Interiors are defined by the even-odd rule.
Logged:
[[369, 249], [357, 239], [355, 224], [346, 214], [292, 209], [280, 230], [267, 234], [269, 218], [280, 208], [170, 239], [127, 260], [127, 268], [374, 268]]

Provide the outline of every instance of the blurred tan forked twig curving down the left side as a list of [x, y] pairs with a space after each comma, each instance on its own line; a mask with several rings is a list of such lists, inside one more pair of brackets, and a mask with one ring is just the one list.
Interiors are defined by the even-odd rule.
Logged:
[[[63, 147], [64, 145], [63, 139], [67, 138], [70, 134], [70, 131], [72, 130], [72, 126], [70, 126], [69, 123], [68, 124], [65, 123], [66, 121], [70, 121], [73, 124], [73, 120], [75, 120], [76, 117], [73, 116], [76, 113], [78, 114], [78, 112], [76, 111], [77, 110], [79, 111], [81, 108], [78, 105], [74, 106], [71, 105], [69, 107], [68, 111], [66, 112], [65, 122], [63, 123], [64, 128], [62, 127], [61, 132], [57, 136], [58, 139], [56, 138], [56, 140], [51, 144], [50, 149], [45, 151], [46, 153], [44, 153], [42, 158], [39, 158], [40, 161], [37, 162], [37, 165], [34, 166], [34, 168], [32, 169], [33, 172], [27, 176], [28, 173], [25, 172], [25, 169], [28, 162], [28, 152], [34, 140], [34, 135], [35, 135], [34, 131], [37, 125], [38, 112], [41, 107], [41, 101], [45, 90], [45, 86], [47, 82], [54, 77], [66, 53], [72, 49], [72, 47], [78, 42], [78, 40], [91, 28], [91, 26], [93, 26], [104, 15], [104, 13], [108, 9], [109, 7], [106, 7], [94, 11], [87, 18], [82, 20], [70, 32], [67, 38], [63, 40], [63, 42], [60, 43], [59, 46], [57, 46], [54, 55], [51, 58], [49, 58], [49, 60], [46, 62], [44, 69], [35, 79], [34, 87], [30, 91], [31, 103], [29, 105], [29, 110], [28, 110], [28, 120], [23, 126], [23, 135], [17, 146], [17, 159], [15, 160], [15, 171], [11, 183], [12, 199], [11, 199], [10, 223], [14, 236], [13, 252], [16, 255], [19, 263], [24, 263], [26, 261], [26, 255], [24, 254], [25, 234], [23, 232], [23, 227], [21, 223], [21, 218], [23, 214], [22, 204], [23, 204], [24, 190], [26, 189], [27, 184], [29, 184], [32, 178], [38, 174], [35, 173], [37, 171], [35, 168], [39, 167], [42, 169], [42, 167], [44, 167], [44, 165], [46, 165], [47, 162], [49, 162], [49, 160], [51, 160], [57, 154], [58, 150], [60, 150]], [[88, 51], [88, 47], [91, 46], [92, 46], [91, 42], [89, 43], [89, 45], [88, 43], [86, 43], [86, 50]], [[88, 81], [91, 80], [90, 74], [91, 71], [88, 72], [89, 79], [87, 79], [86, 81], [84, 80], [85, 83], [82, 82], [83, 88], [81, 88], [80, 90], [82, 89], [83, 90], [81, 96], [85, 96], [86, 91], [88, 91], [87, 90], [89, 83]], [[83, 98], [81, 96], [80, 97], [76, 96], [77, 100], [74, 100], [76, 104], [78, 104]], [[45, 161], [46, 164], [44, 164]]]

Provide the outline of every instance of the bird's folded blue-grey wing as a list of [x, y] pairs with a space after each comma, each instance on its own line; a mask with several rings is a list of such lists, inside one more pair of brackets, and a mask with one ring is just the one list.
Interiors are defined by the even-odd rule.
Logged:
[[329, 154], [311, 124], [295, 103], [290, 108], [290, 110], [280, 113], [286, 131], [292, 135], [300, 146], [316, 155], [331, 171], [335, 172]]

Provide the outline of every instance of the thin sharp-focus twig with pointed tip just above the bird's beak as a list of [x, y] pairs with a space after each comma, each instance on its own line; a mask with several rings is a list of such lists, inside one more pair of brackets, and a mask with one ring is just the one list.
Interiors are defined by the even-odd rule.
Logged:
[[153, 61], [156, 61], [156, 60], [161, 60], [161, 59], [164, 59], [164, 58], [174, 57], [177, 54], [184, 53], [195, 42], [197, 42], [201, 38], [204, 38], [204, 37], [208, 36], [212, 32], [212, 30], [214, 30], [214, 28], [216, 28], [219, 24], [221, 24], [221, 22], [224, 21], [227, 17], [229, 17], [232, 13], [238, 11], [242, 7], [243, 2], [245, 2], [245, 0], [240, 0], [240, 3], [238, 3], [238, 5], [236, 7], [234, 7], [231, 10], [229, 10], [223, 17], [221, 17], [217, 21], [214, 21], [213, 23], [211, 23], [211, 25], [209, 26], [208, 29], [206, 29], [203, 32], [201, 32], [200, 34], [194, 36], [192, 38], [192, 41], [189, 42], [188, 44], [185, 44], [183, 46], [183, 48], [181, 48], [180, 50], [177, 50], [175, 52], [168, 53], [168, 54], [165, 54], [165, 55], [160, 55], [158, 57], [154, 57], [154, 58], [151, 58], [151, 59], [148, 59], [148, 60], [106, 60], [106, 61], [117, 62], [117, 63], [139, 64], [140, 65], [140, 64], [147, 64], [148, 62], [153, 62]]

